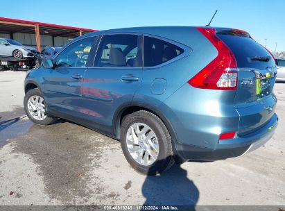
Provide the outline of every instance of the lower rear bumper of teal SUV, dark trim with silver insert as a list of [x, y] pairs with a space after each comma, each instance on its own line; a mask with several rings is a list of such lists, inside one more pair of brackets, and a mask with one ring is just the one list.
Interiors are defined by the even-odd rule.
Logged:
[[216, 145], [215, 149], [202, 148], [189, 144], [176, 144], [178, 155], [184, 160], [225, 160], [244, 155], [258, 149], [270, 140], [277, 128], [278, 117], [273, 117], [268, 123], [250, 135], [234, 137], [230, 140], [223, 140]]

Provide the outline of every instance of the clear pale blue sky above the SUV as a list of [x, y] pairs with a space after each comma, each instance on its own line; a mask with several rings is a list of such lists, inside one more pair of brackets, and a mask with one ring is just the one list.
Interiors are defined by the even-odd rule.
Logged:
[[0, 17], [98, 30], [132, 26], [211, 26], [248, 31], [270, 51], [285, 51], [285, 0], [3, 1]]

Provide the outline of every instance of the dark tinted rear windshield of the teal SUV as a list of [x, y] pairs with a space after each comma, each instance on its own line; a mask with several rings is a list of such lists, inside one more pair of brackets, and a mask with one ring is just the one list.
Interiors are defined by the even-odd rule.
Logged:
[[266, 69], [266, 67], [274, 65], [275, 61], [273, 59], [269, 61], [251, 60], [256, 57], [271, 57], [271, 55], [261, 44], [255, 42], [250, 37], [217, 35], [234, 53], [238, 67]]

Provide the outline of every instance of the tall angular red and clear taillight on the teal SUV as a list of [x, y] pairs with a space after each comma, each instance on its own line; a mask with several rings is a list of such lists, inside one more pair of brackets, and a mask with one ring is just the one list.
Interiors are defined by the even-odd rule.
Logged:
[[218, 56], [198, 72], [188, 83], [211, 90], [236, 90], [238, 79], [236, 58], [227, 45], [216, 36], [214, 28], [197, 28], [218, 50]]

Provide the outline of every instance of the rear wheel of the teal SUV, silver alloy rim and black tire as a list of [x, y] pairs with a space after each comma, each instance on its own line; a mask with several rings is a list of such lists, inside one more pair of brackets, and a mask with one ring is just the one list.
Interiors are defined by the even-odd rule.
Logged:
[[[137, 126], [139, 126], [141, 129], [135, 129]], [[142, 131], [144, 131], [145, 127], [149, 127], [150, 130], [148, 131], [150, 132], [145, 133], [146, 135], [144, 137], [140, 137], [140, 135], [144, 133]], [[133, 128], [133, 130], [131, 128]], [[139, 139], [136, 138], [139, 144], [132, 144], [135, 142], [130, 142], [130, 137], [133, 137], [132, 134], [138, 134], [135, 136], [139, 137]], [[151, 145], [150, 148], [144, 145], [145, 143], [150, 142], [150, 140], [147, 138], [148, 135], [150, 135], [149, 137], [155, 136], [151, 140], [153, 144], [146, 144], [148, 146]], [[152, 146], [156, 146], [155, 148], [157, 148], [158, 151], [156, 151]], [[169, 135], [169, 131], [159, 117], [145, 110], [133, 112], [132, 114], [123, 118], [121, 124], [121, 147], [126, 160], [128, 160], [129, 164], [141, 174], [160, 174], [162, 171], [171, 168], [174, 164], [171, 136]], [[147, 153], [147, 150], [143, 148], [148, 149], [148, 151], [155, 154], [155, 156], [150, 156], [150, 153]], [[132, 153], [130, 153], [130, 151], [132, 151]], [[136, 151], [136, 153], [133, 153], [133, 151]], [[137, 153], [137, 151], [140, 152]], [[140, 158], [144, 158], [144, 160], [141, 161]], [[150, 163], [148, 164], [146, 160], [150, 160]]]

